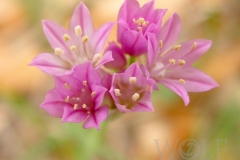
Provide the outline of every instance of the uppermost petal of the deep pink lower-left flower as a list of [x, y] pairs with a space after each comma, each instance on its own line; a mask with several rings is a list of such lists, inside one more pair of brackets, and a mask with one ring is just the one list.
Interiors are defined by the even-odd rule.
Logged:
[[82, 63], [76, 66], [73, 76], [80, 82], [87, 81], [88, 84], [102, 85], [101, 77], [93, 68], [91, 62]]

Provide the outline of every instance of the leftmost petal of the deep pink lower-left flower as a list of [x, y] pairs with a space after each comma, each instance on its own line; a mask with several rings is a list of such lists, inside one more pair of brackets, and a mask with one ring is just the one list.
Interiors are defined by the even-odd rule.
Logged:
[[66, 105], [64, 99], [60, 96], [57, 89], [54, 88], [47, 93], [40, 107], [46, 110], [50, 115], [61, 118], [63, 116], [64, 105]]

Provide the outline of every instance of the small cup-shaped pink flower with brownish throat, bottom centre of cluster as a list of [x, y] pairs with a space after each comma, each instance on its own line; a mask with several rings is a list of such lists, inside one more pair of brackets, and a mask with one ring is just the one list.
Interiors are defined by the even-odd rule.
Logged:
[[109, 92], [122, 113], [153, 111], [152, 82], [143, 76], [137, 63], [130, 65], [124, 73], [113, 75]]

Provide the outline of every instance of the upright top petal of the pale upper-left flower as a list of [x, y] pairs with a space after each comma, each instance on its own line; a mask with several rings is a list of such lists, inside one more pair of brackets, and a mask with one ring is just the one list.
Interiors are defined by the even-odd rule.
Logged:
[[84, 36], [92, 37], [94, 25], [88, 8], [81, 2], [73, 12], [69, 30], [74, 32], [76, 26], [81, 26]]

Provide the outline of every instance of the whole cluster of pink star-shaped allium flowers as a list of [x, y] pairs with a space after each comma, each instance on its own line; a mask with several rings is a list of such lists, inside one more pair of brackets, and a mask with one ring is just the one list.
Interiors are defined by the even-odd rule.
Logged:
[[181, 20], [174, 13], [162, 24], [167, 10], [154, 9], [154, 1], [140, 7], [125, 0], [117, 19], [117, 40], [104, 48], [114, 25], [108, 22], [94, 28], [87, 7], [80, 3], [66, 30], [44, 20], [43, 30], [53, 48], [30, 65], [54, 77], [41, 107], [62, 122], [83, 122], [83, 128], [96, 128], [109, 110], [153, 111], [152, 90], [163, 84], [189, 103], [188, 92], [217, 87], [209, 76], [192, 67], [211, 46], [211, 41], [195, 39], [175, 44]]

